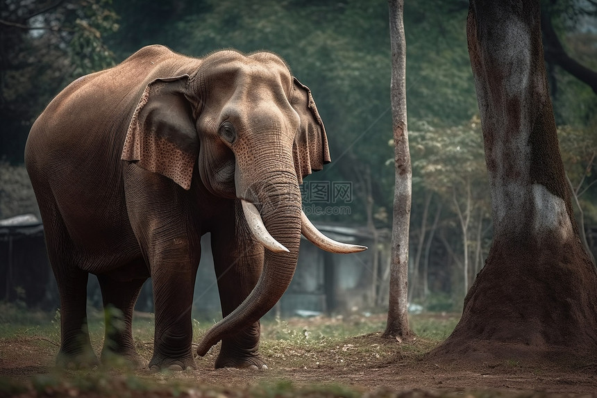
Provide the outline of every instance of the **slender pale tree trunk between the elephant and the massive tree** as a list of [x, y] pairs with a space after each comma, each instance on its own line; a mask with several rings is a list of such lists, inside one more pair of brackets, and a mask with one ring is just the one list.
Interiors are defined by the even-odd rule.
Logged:
[[396, 177], [392, 221], [392, 265], [389, 279], [389, 309], [383, 336], [401, 340], [412, 335], [408, 326], [408, 229], [412, 169], [406, 124], [406, 40], [404, 0], [388, 0], [389, 35], [392, 45], [392, 125]]

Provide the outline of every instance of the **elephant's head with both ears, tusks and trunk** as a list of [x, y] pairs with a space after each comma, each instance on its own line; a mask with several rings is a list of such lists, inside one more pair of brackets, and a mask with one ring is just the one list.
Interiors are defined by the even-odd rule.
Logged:
[[301, 231], [323, 249], [365, 249], [321, 235], [301, 210], [299, 183], [330, 161], [310, 90], [271, 53], [219, 51], [195, 73], [149, 83], [128, 128], [122, 158], [186, 190], [195, 163], [205, 188], [241, 199], [249, 229], [264, 247], [251, 295], [208, 331], [198, 352], [262, 317], [292, 279]]

